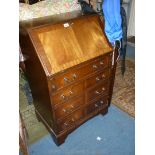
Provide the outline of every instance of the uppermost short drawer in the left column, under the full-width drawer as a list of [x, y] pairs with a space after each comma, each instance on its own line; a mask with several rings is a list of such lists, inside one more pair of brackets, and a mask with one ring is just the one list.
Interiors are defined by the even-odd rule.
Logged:
[[71, 98], [80, 95], [84, 91], [84, 83], [78, 83], [70, 85], [65, 89], [62, 89], [58, 93], [52, 95], [52, 101], [54, 105], [61, 104], [69, 101]]

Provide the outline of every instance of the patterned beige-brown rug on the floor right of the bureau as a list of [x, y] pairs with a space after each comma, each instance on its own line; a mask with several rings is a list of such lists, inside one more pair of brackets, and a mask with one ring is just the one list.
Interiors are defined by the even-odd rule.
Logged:
[[124, 77], [121, 74], [120, 62], [117, 65], [112, 103], [135, 117], [135, 64], [126, 60]]

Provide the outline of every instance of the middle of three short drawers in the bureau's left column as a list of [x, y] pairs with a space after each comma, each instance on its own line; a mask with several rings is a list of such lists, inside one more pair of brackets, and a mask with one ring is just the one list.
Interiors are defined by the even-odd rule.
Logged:
[[57, 120], [71, 114], [73, 111], [78, 109], [83, 104], [84, 104], [84, 97], [81, 96], [59, 106], [58, 108], [55, 109], [55, 116]]

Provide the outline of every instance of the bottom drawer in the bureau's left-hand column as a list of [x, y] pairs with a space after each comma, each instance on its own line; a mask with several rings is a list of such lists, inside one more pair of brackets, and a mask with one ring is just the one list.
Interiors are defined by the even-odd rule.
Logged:
[[67, 130], [76, 125], [78, 121], [84, 118], [84, 108], [80, 108], [74, 112], [74, 114], [70, 115], [68, 118], [58, 121], [58, 130], [59, 132], [63, 130]]

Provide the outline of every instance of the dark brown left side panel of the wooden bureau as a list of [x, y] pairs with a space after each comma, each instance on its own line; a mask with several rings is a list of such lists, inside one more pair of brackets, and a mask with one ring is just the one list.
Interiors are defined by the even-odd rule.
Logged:
[[23, 49], [23, 53], [27, 56], [25, 61], [26, 75], [32, 91], [34, 106], [50, 127], [53, 128], [53, 114], [47, 78], [29, 37], [26, 43], [27, 47], [26, 50]]

